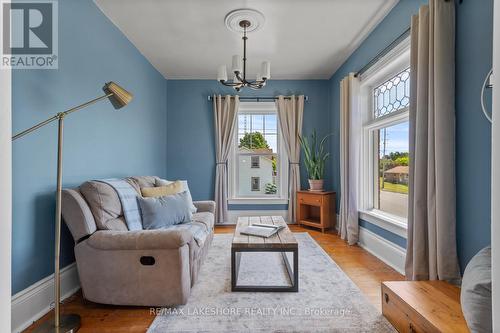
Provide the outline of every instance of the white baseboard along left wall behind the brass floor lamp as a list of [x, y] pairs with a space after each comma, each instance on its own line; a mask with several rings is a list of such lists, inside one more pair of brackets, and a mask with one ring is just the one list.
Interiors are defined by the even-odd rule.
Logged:
[[[76, 263], [61, 269], [61, 300], [80, 289]], [[21, 332], [54, 307], [54, 274], [12, 296], [12, 332]]]

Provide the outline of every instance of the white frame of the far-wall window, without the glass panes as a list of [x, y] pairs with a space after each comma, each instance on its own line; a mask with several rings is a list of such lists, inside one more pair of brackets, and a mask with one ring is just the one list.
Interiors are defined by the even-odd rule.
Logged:
[[[274, 102], [240, 102], [238, 113], [251, 113], [251, 114], [277, 114], [276, 104]], [[238, 126], [238, 125], [236, 125]], [[278, 194], [266, 196], [251, 196], [243, 197], [238, 196], [238, 168], [237, 168], [237, 149], [238, 149], [238, 131], [234, 131], [233, 145], [228, 159], [229, 169], [229, 204], [288, 204], [288, 155], [283, 142], [281, 128], [278, 122], [278, 156], [279, 162], [277, 167], [278, 181]], [[255, 155], [252, 153], [250, 155]], [[262, 184], [261, 184], [262, 185]]]

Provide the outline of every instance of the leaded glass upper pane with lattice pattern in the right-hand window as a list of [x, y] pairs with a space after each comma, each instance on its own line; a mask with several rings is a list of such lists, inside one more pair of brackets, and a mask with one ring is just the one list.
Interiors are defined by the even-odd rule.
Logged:
[[373, 89], [373, 116], [379, 118], [410, 105], [410, 68]]

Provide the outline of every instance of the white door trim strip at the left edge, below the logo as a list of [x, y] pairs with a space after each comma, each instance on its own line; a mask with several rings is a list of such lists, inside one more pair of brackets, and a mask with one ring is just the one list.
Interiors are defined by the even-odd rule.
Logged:
[[0, 69], [0, 332], [10, 332], [12, 236], [11, 71]]

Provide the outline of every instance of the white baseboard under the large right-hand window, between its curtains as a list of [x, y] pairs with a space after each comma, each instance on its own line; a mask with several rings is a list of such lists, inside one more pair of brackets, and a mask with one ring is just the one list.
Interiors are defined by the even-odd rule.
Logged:
[[406, 250], [363, 227], [359, 228], [359, 246], [400, 274], [405, 272]]

